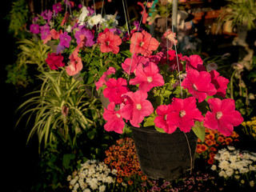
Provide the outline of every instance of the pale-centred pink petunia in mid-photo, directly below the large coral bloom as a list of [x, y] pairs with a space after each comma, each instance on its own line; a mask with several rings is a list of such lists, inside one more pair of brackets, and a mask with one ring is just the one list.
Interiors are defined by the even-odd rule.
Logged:
[[165, 84], [162, 75], [159, 74], [158, 66], [154, 62], [149, 62], [149, 66], [143, 68], [139, 64], [136, 69], [136, 77], [130, 79], [130, 85], [139, 84], [142, 91], [150, 91], [154, 86], [163, 86]]

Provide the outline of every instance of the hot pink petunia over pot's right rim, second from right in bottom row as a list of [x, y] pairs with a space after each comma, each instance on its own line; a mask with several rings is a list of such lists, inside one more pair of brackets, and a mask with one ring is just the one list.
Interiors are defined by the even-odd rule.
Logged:
[[183, 132], [189, 132], [194, 126], [194, 121], [202, 122], [203, 116], [196, 105], [196, 99], [190, 98], [173, 98], [170, 105], [170, 113], [167, 115], [169, 130], [166, 133], [173, 133], [177, 127]]

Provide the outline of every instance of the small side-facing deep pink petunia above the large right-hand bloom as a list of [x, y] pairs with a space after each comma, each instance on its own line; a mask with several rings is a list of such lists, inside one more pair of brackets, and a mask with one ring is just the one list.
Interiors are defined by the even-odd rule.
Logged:
[[203, 66], [202, 58], [198, 54], [190, 55], [188, 58], [187, 56], [182, 57], [182, 61], [186, 61], [186, 71], [198, 70], [198, 71], [206, 71], [206, 67]]

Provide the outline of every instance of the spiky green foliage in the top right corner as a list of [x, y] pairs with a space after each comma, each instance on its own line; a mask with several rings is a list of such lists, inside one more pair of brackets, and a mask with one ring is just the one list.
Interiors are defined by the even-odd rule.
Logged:
[[255, 28], [255, 0], [227, 0], [228, 4], [218, 17], [219, 22], [231, 21], [233, 25], [247, 24], [248, 29]]

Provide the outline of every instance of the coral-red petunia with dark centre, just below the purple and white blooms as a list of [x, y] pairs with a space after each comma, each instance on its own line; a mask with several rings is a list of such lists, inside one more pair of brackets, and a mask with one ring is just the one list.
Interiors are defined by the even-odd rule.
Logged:
[[98, 35], [98, 42], [102, 53], [113, 52], [114, 54], [118, 54], [122, 39], [108, 30], [106, 33]]

